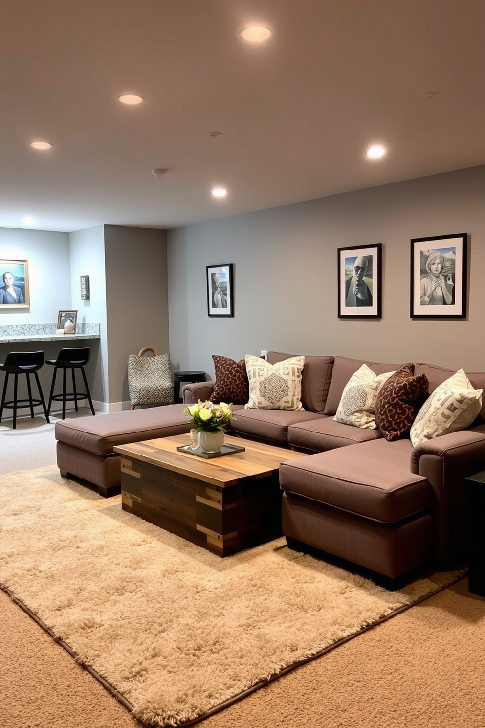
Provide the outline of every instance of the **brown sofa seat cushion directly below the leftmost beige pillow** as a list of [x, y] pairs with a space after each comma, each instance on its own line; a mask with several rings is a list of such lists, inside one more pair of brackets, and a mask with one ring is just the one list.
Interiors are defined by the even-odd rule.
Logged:
[[234, 413], [236, 419], [231, 419], [231, 430], [239, 435], [249, 435], [262, 440], [272, 440], [276, 443], [286, 443], [288, 428], [292, 424], [318, 421], [323, 415], [316, 412], [300, 410], [253, 410], [244, 409]]

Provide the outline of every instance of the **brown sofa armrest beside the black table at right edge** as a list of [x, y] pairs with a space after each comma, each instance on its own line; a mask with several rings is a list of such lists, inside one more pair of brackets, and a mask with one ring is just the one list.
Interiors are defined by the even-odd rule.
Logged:
[[472, 430], [452, 432], [418, 443], [411, 471], [428, 478], [433, 491], [436, 556], [452, 562], [468, 550], [468, 494], [465, 478], [485, 470], [485, 435]]

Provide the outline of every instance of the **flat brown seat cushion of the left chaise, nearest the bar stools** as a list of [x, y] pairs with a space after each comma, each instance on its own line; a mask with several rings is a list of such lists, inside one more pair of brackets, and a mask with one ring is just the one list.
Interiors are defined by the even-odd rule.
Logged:
[[190, 417], [183, 412], [185, 405], [166, 405], [140, 410], [111, 412], [55, 424], [55, 438], [97, 455], [113, 453], [113, 446], [139, 443], [142, 440], [168, 438], [189, 432]]

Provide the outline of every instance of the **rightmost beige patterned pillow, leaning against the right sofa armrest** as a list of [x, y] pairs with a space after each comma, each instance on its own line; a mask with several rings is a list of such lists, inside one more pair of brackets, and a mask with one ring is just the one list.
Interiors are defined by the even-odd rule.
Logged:
[[462, 369], [436, 387], [412, 424], [412, 445], [450, 432], [465, 430], [481, 410], [483, 389], [473, 385]]

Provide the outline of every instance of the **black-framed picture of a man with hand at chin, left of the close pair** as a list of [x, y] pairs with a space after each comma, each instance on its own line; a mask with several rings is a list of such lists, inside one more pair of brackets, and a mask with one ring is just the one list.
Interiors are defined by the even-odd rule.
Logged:
[[338, 248], [338, 317], [380, 318], [382, 243]]

